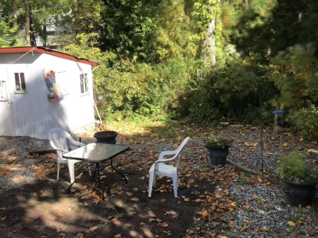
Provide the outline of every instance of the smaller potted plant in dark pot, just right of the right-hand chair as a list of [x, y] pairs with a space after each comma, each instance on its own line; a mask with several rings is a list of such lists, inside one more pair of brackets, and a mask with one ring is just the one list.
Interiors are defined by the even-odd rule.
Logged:
[[212, 135], [204, 145], [207, 149], [210, 165], [225, 165], [232, 143], [233, 140], [229, 137]]

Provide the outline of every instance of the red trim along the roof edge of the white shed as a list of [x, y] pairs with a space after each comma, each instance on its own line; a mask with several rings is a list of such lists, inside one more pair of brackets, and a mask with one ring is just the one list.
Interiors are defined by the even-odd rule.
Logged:
[[86, 63], [86, 64], [90, 64], [92, 66], [97, 66], [99, 64], [97, 62], [86, 60], [84, 58], [78, 58], [76, 56], [72, 56], [72, 55], [69, 55], [69, 54], [65, 54], [65, 53], [62, 53], [62, 52], [50, 50], [50, 49], [47, 49], [47, 48], [44, 48], [44, 47], [37, 47], [37, 46], [0, 48], [0, 54], [5, 54], [5, 53], [27, 53], [27, 52], [32, 51], [32, 50], [34, 52], [44, 53], [44, 54], [60, 57], [60, 58], [67, 59], [67, 60], [73, 60], [73, 61], [77, 61], [77, 62], [81, 62], [81, 63]]

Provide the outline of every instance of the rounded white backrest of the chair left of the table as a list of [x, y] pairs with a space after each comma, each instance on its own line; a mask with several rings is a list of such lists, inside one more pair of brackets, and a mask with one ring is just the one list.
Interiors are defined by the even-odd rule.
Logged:
[[63, 152], [68, 152], [69, 147], [67, 139], [70, 140], [71, 135], [63, 128], [52, 128], [49, 133], [49, 140], [51, 146], [58, 150], [58, 155], [62, 155]]

